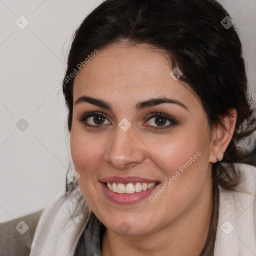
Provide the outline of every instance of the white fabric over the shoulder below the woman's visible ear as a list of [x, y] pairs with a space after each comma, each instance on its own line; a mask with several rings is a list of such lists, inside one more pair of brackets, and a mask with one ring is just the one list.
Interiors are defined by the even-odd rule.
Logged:
[[240, 182], [235, 190], [219, 186], [214, 255], [252, 255], [256, 251], [256, 167], [235, 164]]

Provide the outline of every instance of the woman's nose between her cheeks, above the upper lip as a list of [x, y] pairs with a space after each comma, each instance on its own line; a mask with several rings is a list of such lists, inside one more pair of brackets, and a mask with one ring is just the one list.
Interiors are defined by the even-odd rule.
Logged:
[[143, 142], [134, 134], [132, 127], [123, 131], [116, 127], [113, 138], [109, 141], [104, 153], [104, 160], [117, 169], [124, 169], [138, 163], [145, 158]]

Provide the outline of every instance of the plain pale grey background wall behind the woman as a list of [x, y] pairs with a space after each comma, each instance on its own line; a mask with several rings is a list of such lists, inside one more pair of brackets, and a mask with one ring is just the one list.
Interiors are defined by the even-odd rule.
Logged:
[[[39, 210], [64, 192], [70, 159], [67, 110], [62, 91], [51, 100], [46, 95], [62, 82], [73, 31], [100, 2], [0, 0], [1, 222]], [[219, 2], [238, 29], [252, 95], [256, 0]], [[23, 131], [16, 126], [21, 118], [28, 124]]]

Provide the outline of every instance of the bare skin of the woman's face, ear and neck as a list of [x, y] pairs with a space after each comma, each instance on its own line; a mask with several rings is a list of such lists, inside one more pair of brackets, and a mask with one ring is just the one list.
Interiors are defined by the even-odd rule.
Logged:
[[[170, 70], [160, 50], [119, 42], [99, 50], [75, 77], [74, 102], [86, 95], [112, 107], [74, 104], [70, 133], [79, 188], [107, 228], [103, 256], [199, 255], [205, 244], [212, 212], [212, 163], [223, 157], [236, 112], [224, 118], [225, 129], [216, 125], [211, 131], [197, 97], [174, 80]], [[135, 109], [142, 100], [163, 96], [180, 101], [187, 109], [174, 103]], [[106, 115], [103, 124], [91, 128], [85, 123], [97, 125], [93, 117], [78, 120], [93, 111]], [[159, 124], [157, 117], [149, 119], [152, 112], [165, 113], [177, 123], [154, 129]], [[127, 131], [118, 127], [123, 118], [131, 123]], [[164, 126], [168, 124], [167, 120]], [[161, 187], [198, 151], [197, 159], [153, 202], [148, 197], [132, 204], [112, 202], [99, 183], [106, 176], [139, 176], [159, 180]], [[123, 221], [128, 223], [127, 233], [118, 228]]]

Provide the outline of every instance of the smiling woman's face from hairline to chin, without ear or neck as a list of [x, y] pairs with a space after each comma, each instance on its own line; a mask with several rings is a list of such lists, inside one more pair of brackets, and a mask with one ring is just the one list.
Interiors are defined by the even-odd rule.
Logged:
[[78, 185], [118, 234], [163, 229], [209, 197], [206, 114], [170, 71], [159, 50], [118, 43], [99, 50], [74, 80], [70, 149]]

